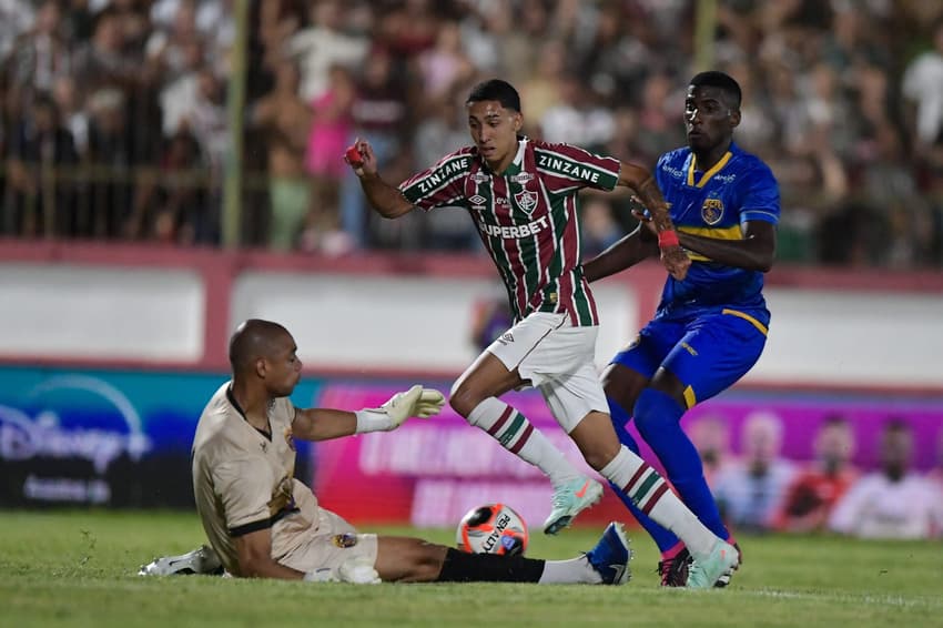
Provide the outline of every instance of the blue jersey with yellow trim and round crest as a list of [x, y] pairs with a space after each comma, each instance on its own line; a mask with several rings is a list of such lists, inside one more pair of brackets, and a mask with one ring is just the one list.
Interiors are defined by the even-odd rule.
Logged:
[[[661, 155], [655, 172], [679, 232], [742, 240], [747, 221], [779, 222], [779, 186], [759, 158], [731, 143], [707, 172], [694, 162], [686, 146]], [[769, 325], [763, 273], [719, 264], [693, 252], [689, 255], [691, 267], [685, 281], [668, 276], [657, 316], [683, 318], [729, 307], [750, 311]]]

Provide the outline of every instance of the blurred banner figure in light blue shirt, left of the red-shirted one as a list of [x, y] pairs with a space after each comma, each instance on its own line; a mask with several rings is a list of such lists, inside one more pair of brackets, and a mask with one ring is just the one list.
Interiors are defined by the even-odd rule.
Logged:
[[779, 455], [782, 422], [768, 412], [749, 415], [741, 445], [742, 459], [717, 474], [713, 496], [731, 526], [763, 530], [772, 524], [794, 474], [792, 464]]

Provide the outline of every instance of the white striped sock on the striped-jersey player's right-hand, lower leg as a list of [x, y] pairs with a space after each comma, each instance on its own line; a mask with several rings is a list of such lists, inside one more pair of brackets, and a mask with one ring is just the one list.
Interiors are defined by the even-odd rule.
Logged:
[[717, 537], [678, 498], [668, 483], [645, 460], [622, 445], [602, 476], [631, 497], [642, 513], [675, 533], [694, 558], [710, 554]]

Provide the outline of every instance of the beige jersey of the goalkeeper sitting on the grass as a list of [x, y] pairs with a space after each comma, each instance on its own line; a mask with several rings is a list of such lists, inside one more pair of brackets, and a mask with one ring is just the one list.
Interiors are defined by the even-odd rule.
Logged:
[[206, 404], [193, 439], [193, 494], [210, 545], [227, 571], [239, 574], [234, 538], [272, 529], [280, 560], [317, 529], [317, 499], [294, 478], [295, 445], [288, 398], [268, 408], [271, 438], [245, 421], [231, 382]]

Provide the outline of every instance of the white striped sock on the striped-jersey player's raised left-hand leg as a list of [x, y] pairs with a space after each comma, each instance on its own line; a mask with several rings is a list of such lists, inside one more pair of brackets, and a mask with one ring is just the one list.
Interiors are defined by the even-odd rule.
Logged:
[[511, 406], [488, 397], [467, 418], [490, 434], [501, 447], [544, 472], [554, 486], [577, 478], [580, 473], [534, 424]]

